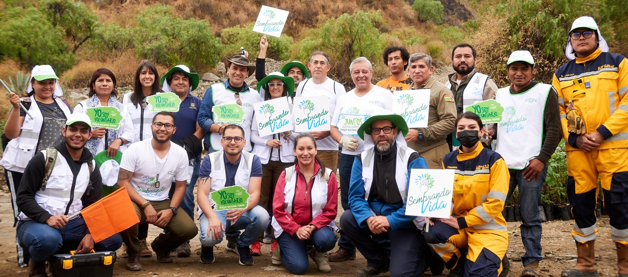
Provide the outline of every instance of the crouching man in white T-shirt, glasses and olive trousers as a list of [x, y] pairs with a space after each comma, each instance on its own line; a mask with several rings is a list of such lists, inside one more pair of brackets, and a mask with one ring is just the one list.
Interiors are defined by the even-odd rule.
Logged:
[[[158, 112], [153, 117], [153, 139], [131, 144], [122, 155], [118, 186], [125, 186], [133, 207], [138, 214], [139, 224], [149, 223], [168, 231], [151, 243], [159, 263], [172, 263], [170, 251], [188, 241], [198, 233], [198, 228], [185, 212], [178, 212], [183, 200], [188, 172], [188, 154], [179, 145], [170, 142], [176, 132], [176, 119], [170, 112]], [[168, 192], [175, 180], [175, 192], [171, 199]], [[163, 183], [163, 184], [162, 184]], [[139, 271], [138, 226], [122, 231], [127, 245], [126, 269]]]

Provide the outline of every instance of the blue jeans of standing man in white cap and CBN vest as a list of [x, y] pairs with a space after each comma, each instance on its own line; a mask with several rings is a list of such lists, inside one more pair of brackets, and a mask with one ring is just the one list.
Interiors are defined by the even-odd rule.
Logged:
[[545, 182], [545, 176], [548, 173], [548, 167], [545, 165], [539, 179], [528, 181], [523, 175], [524, 169], [510, 169], [510, 187], [506, 202], [512, 196], [514, 189], [519, 186], [519, 207], [521, 207], [521, 241], [526, 253], [521, 255], [523, 265], [532, 263], [533, 261], [541, 261], [541, 216], [539, 215], [539, 205], [541, 204], [541, 189]]

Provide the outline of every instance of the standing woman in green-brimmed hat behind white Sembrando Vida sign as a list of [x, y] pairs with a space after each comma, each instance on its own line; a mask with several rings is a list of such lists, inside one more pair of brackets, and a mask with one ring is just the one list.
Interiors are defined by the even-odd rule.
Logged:
[[[261, 90], [263, 88], [264, 90]], [[286, 77], [282, 73], [273, 72], [264, 77], [257, 83], [257, 91], [264, 91], [261, 100], [272, 100], [277, 98], [285, 98], [288, 103], [291, 102], [290, 95], [295, 92], [295, 80], [292, 77]], [[270, 216], [273, 216], [273, 195], [274, 186], [277, 184], [279, 175], [286, 167], [294, 164], [295, 153], [294, 141], [298, 133], [283, 132], [273, 135], [260, 136], [257, 129], [257, 120], [253, 117], [251, 128], [251, 141], [253, 142], [252, 154], [259, 156], [262, 162], [262, 191], [259, 196], [259, 206], [262, 206]], [[270, 199], [270, 200], [269, 200]], [[266, 234], [264, 234], [264, 243], [269, 244], [273, 240], [273, 230], [271, 224], [268, 224]], [[271, 245], [274, 251], [277, 243]], [[259, 242], [251, 246], [251, 249], [259, 249]]]

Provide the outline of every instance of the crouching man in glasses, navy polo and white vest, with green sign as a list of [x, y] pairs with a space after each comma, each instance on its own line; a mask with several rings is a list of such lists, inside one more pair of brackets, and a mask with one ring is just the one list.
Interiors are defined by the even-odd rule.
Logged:
[[[202, 244], [200, 262], [214, 263], [214, 245], [222, 241], [225, 231], [244, 229], [244, 233], [237, 239], [236, 249], [232, 251], [238, 255], [239, 264], [251, 266], [253, 257], [249, 245], [264, 233], [270, 220], [266, 209], [257, 206], [262, 183], [262, 164], [256, 155], [242, 152], [247, 144], [242, 127], [235, 124], [225, 126], [220, 142], [222, 150], [207, 155], [199, 173], [197, 201], [200, 221], [198, 238]], [[249, 194], [248, 199], [242, 199], [233, 193], [220, 193], [233, 186], [244, 188]], [[220, 194], [220, 198], [213, 197], [214, 193]], [[215, 199], [221, 201], [217, 203]], [[225, 209], [220, 207], [224, 204], [222, 202], [243, 205], [237, 209]]]

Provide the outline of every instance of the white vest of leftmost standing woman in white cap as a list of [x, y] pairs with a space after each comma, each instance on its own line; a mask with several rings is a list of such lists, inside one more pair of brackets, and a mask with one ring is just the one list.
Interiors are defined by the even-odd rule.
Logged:
[[[65, 113], [65, 117], [70, 116], [72, 112], [70, 112], [70, 108], [63, 103], [63, 100], [58, 97], [53, 99], [57, 102], [57, 105], [59, 105], [63, 113]], [[0, 166], [3, 166], [5, 170], [24, 172], [26, 165], [35, 155], [35, 147], [39, 142], [41, 125], [43, 125], [43, 115], [41, 115], [41, 110], [35, 101], [35, 96], [31, 96], [31, 107], [28, 112], [33, 114], [35, 118], [31, 118], [28, 114], [24, 116], [24, 123], [22, 123], [22, 130], [19, 133], [19, 137], [11, 140], [4, 150], [3, 158], [0, 160]]]

